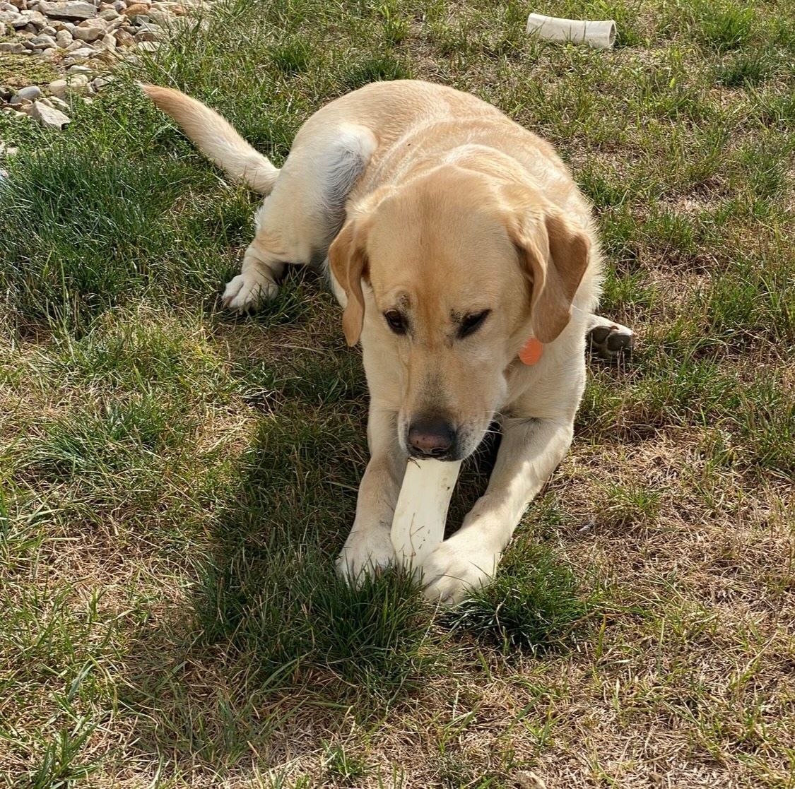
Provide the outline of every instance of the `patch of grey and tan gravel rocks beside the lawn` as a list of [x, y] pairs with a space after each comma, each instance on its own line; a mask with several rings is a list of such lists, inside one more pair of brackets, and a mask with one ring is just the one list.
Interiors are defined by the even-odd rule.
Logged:
[[[113, 76], [120, 58], [157, 52], [169, 31], [192, 8], [213, 0], [0, 0], [0, 53], [47, 60], [63, 77], [14, 91], [0, 85], [0, 111], [63, 129], [70, 119], [65, 99], [91, 102]], [[64, 73], [65, 72], [65, 73]], [[71, 98], [70, 98], [71, 97]]]

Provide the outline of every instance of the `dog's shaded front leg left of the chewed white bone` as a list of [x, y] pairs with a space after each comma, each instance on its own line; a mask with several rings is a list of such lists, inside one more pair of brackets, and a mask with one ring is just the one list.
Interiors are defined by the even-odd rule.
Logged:
[[337, 559], [337, 570], [349, 583], [359, 581], [364, 572], [394, 562], [390, 533], [405, 474], [405, 456], [396, 436], [397, 415], [371, 401], [367, 423], [370, 462], [359, 485], [353, 528]]

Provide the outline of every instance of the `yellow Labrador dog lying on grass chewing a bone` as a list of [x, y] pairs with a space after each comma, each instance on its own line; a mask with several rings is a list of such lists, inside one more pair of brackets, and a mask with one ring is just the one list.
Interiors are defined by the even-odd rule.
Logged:
[[288, 263], [328, 259], [370, 389], [371, 457], [339, 570], [355, 579], [393, 562], [406, 458], [466, 458], [498, 420], [486, 493], [421, 567], [432, 599], [483, 585], [572, 442], [586, 333], [608, 352], [631, 340], [593, 315], [599, 245], [563, 162], [494, 106], [400, 80], [324, 106], [280, 170], [200, 102], [143, 89], [231, 178], [268, 195], [228, 307], [273, 297]]

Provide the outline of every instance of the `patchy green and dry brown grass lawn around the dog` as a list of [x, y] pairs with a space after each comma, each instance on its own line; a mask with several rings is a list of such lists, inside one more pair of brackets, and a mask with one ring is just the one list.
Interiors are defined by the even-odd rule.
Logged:
[[[237, 0], [64, 133], [0, 116], [0, 786], [795, 787], [793, 63], [785, 0]], [[462, 609], [335, 579], [359, 354], [310, 273], [219, 309], [256, 201], [136, 77], [276, 164], [329, 99], [436, 80], [591, 196], [639, 347]]]

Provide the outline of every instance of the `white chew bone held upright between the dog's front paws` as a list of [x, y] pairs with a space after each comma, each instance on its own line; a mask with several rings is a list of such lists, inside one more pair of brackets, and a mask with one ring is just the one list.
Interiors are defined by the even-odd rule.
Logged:
[[392, 547], [404, 567], [418, 568], [444, 539], [460, 469], [460, 460], [409, 460], [392, 520]]

